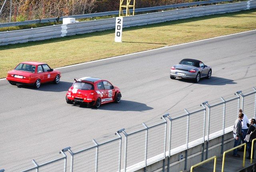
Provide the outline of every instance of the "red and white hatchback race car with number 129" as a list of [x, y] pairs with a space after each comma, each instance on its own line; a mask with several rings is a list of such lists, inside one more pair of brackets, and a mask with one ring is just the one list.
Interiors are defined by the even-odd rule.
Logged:
[[68, 104], [78, 102], [99, 108], [101, 104], [119, 103], [121, 101], [122, 96], [119, 88], [113, 86], [107, 80], [94, 77], [83, 77], [74, 80], [74, 84], [66, 94]]

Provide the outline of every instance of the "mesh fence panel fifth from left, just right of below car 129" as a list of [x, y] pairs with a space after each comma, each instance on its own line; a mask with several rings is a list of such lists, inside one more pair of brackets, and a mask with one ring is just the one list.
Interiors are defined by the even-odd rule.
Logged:
[[[142, 131], [136, 132], [139, 129]], [[131, 133], [131, 131], [136, 133]], [[126, 172], [135, 171], [145, 166], [146, 129], [143, 125], [136, 125], [127, 129]], [[132, 166], [132, 168], [131, 168]]]

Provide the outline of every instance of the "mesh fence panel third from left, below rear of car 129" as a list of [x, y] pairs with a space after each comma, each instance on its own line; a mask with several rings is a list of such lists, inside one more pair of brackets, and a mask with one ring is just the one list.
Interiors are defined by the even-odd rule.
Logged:
[[74, 152], [72, 167], [70, 167], [73, 168], [73, 172], [94, 172], [96, 170], [97, 148], [94, 146], [95, 144], [90, 141], [70, 149]]

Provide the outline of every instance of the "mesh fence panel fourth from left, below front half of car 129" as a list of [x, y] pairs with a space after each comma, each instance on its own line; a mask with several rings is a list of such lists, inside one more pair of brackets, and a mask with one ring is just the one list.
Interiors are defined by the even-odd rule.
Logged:
[[121, 138], [108, 134], [95, 141], [100, 145], [98, 147], [98, 172], [117, 172], [120, 164]]

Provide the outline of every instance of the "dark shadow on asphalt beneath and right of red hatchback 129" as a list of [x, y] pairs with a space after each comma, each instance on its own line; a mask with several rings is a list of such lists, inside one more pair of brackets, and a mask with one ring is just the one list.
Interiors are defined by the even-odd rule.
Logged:
[[[74, 105], [74, 106], [79, 106]], [[80, 108], [87, 108], [86, 104], [80, 105]], [[90, 106], [88, 107], [93, 110], [97, 110], [96, 108]], [[139, 103], [139, 102], [133, 102], [133, 101], [128, 101], [128, 100], [121, 100], [120, 103], [116, 104], [114, 102], [108, 103], [108, 104], [103, 104], [100, 106], [101, 110], [109, 110], [109, 111], [147, 111], [151, 110], [153, 108], [147, 106], [146, 104]]]

